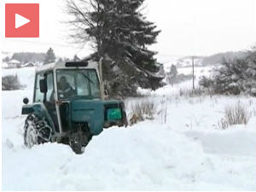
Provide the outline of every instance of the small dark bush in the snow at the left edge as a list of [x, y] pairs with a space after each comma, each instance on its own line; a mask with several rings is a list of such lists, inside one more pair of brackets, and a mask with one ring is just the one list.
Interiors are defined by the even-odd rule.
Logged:
[[20, 90], [22, 85], [16, 75], [8, 75], [2, 77], [2, 90]]

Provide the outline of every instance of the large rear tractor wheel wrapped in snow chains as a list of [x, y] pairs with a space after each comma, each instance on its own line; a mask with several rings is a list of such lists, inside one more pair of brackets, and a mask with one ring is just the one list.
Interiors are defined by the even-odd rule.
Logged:
[[27, 116], [24, 129], [24, 144], [27, 148], [50, 141], [51, 128], [44, 119], [39, 119], [34, 113]]

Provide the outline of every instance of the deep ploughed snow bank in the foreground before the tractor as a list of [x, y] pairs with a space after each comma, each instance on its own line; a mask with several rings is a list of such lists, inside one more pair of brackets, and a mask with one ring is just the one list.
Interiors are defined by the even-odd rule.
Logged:
[[[224, 145], [232, 150], [241, 131], [225, 131], [228, 143], [218, 143], [218, 137], [206, 144], [200, 134], [186, 137], [158, 126], [145, 121], [105, 130], [82, 155], [61, 144], [26, 149], [5, 140], [3, 190], [255, 189], [255, 145], [247, 154], [245, 148], [236, 155], [218, 151]], [[244, 142], [255, 139], [240, 136]]]

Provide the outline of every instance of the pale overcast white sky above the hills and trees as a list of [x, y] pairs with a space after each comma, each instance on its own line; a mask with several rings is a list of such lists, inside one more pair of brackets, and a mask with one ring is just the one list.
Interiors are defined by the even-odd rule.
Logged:
[[[67, 42], [63, 0], [5, 0], [4, 3], [40, 3], [40, 38], [4, 38], [3, 50], [45, 52], [72, 57], [90, 53]], [[255, 0], [146, 0], [143, 10], [162, 32], [150, 49], [160, 55], [212, 55], [250, 49], [256, 43]], [[1, 3], [3, 15], [3, 3]], [[2, 26], [3, 26], [3, 16]], [[4, 27], [1, 27], [3, 29]]]

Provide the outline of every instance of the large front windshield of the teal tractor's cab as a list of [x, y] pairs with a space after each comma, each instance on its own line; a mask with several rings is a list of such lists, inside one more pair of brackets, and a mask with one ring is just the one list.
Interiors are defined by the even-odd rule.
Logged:
[[100, 98], [100, 84], [94, 69], [58, 69], [56, 71], [58, 98], [74, 96]]

